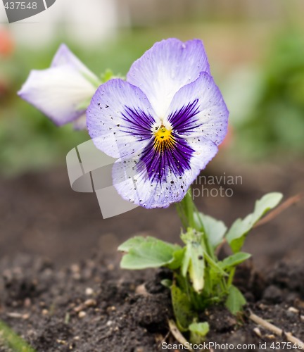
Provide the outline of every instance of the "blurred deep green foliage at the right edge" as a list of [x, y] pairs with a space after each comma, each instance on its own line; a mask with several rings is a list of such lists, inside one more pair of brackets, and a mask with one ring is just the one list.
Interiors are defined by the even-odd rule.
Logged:
[[[304, 152], [304, 35], [279, 32], [260, 68], [255, 106], [236, 127], [235, 144], [253, 158]], [[246, 89], [246, 87], [243, 87]], [[250, 89], [248, 87], [248, 89]]]

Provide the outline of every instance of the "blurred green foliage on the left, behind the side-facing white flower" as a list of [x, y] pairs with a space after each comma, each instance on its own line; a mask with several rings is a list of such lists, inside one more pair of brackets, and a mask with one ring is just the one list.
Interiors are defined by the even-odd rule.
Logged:
[[[70, 49], [97, 75], [107, 68], [125, 75], [134, 60], [153, 44], [153, 32], [126, 31], [117, 39], [101, 46], [84, 49], [66, 43]], [[36, 108], [17, 96], [30, 70], [49, 68], [64, 37], [56, 37], [51, 45], [37, 52], [17, 46], [6, 60], [0, 59], [3, 89], [0, 91], [0, 173], [12, 176], [22, 172], [41, 170], [52, 165], [63, 165], [65, 155], [77, 144], [89, 139], [85, 131], [74, 131], [72, 126], [56, 127]]]

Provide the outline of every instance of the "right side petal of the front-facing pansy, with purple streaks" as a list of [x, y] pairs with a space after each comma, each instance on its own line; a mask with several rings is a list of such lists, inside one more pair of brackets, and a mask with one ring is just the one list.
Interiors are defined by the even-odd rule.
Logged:
[[222, 143], [227, 134], [229, 111], [213, 77], [201, 73], [198, 79], [179, 89], [166, 113], [165, 122], [180, 136], [203, 137]]

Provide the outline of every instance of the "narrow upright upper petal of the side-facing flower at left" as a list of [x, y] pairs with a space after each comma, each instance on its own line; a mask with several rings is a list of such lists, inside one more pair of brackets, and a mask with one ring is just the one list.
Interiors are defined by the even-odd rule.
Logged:
[[[75, 68], [75, 70], [84, 77], [86, 77], [90, 82], [99, 82], [98, 77], [92, 73], [86, 65], [84, 65], [77, 56], [75, 56], [68, 46], [65, 44], [61, 44], [59, 46], [58, 51], [53, 57], [53, 61], [51, 63], [51, 67], [65, 66], [69, 65], [71, 68]], [[99, 84], [97, 84], [97, 87]]]

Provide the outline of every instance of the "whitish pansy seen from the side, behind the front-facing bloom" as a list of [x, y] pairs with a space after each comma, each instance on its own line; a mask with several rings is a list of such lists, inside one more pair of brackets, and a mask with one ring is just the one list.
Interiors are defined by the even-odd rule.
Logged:
[[32, 70], [18, 95], [48, 116], [56, 125], [73, 122], [76, 129], [86, 127], [83, 103], [89, 101], [99, 79], [61, 44], [46, 70]]

